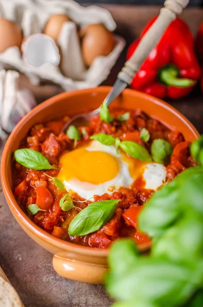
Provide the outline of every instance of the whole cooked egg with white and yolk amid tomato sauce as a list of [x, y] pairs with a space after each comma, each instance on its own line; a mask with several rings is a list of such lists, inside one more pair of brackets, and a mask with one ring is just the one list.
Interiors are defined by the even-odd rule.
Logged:
[[117, 154], [114, 145], [106, 146], [96, 140], [64, 153], [60, 166], [58, 178], [65, 189], [84, 199], [111, 194], [120, 187], [130, 188], [140, 176], [143, 177], [143, 187], [154, 190], [166, 179], [164, 165], [141, 162], [127, 157], [121, 150]]

